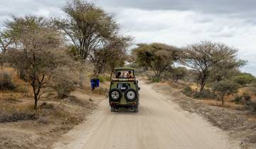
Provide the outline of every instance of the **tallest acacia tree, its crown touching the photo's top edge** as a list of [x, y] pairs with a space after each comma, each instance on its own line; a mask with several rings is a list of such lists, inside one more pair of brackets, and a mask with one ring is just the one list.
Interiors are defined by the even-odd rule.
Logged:
[[82, 59], [89, 57], [93, 61], [95, 50], [102, 49], [119, 29], [112, 15], [87, 1], [72, 0], [63, 11], [68, 18], [55, 23], [75, 45]]

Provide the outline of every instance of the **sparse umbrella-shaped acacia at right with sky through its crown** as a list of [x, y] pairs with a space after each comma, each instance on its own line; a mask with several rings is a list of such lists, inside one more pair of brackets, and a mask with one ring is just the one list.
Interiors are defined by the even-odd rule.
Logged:
[[200, 91], [203, 91], [212, 70], [236, 69], [245, 64], [245, 61], [237, 60], [237, 52], [227, 45], [210, 41], [188, 45], [184, 52], [186, 65], [196, 70]]

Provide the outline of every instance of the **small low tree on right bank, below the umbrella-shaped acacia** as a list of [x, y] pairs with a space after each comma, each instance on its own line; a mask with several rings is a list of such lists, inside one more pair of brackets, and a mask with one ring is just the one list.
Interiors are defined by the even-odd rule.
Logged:
[[238, 92], [238, 87], [238, 84], [228, 79], [225, 79], [219, 82], [214, 82], [211, 86], [211, 89], [213, 90], [213, 92], [216, 92], [220, 96], [220, 99], [224, 106], [225, 98], [227, 98], [230, 94]]

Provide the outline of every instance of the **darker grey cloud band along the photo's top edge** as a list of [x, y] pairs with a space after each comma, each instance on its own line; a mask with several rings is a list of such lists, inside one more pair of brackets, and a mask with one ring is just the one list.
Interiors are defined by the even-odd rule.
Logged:
[[95, 0], [109, 7], [144, 10], [201, 11], [207, 13], [241, 13], [255, 11], [255, 0]]

